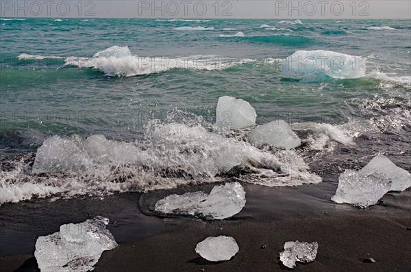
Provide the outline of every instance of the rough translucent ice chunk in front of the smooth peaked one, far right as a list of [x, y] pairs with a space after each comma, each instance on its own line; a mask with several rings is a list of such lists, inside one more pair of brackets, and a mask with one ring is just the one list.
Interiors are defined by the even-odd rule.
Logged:
[[345, 170], [338, 178], [338, 188], [331, 200], [364, 208], [377, 203], [390, 191], [390, 186], [390, 180], [384, 174], [375, 172], [371, 176], [363, 176], [356, 171]]

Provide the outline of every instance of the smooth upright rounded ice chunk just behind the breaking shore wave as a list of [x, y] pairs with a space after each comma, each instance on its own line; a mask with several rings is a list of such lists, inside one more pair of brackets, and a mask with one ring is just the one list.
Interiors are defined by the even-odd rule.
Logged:
[[256, 124], [257, 113], [245, 100], [221, 96], [217, 103], [216, 117], [218, 126], [239, 129]]

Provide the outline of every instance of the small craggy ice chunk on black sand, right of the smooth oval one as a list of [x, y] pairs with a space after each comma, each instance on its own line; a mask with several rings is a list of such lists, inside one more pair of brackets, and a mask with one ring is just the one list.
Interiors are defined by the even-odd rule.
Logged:
[[279, 260], [291, 269], [296, 267], [295, 262], [312, 262], [314, 261], [317, 250], [319, 249], [319, 244], [314, 243], [300, 243], [286, 242], [284, 244], [284, 251], [279, 253]]

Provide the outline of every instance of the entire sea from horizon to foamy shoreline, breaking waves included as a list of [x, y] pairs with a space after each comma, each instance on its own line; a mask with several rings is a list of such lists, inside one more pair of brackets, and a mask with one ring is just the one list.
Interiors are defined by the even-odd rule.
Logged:
[[[411, 170], [408, 20], [0, 18], [0, 37], [0, 204], [304, 185], [379, 153]], [[301, 145], [216, 127], [221, 96]]]

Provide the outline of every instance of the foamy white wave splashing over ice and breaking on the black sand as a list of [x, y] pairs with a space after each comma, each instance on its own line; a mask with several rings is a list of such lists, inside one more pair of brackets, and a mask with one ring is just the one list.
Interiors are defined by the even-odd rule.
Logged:
[[321, 182], [295, 150], [258, 149], [243, 140], [249, 131], [237, 133], [233, 137], [210, 124], [153, 120], [144, 141], [54, 136], [38, 148], [34, 163], [27, 155], [1, 167], [0, 203], [171, 189], [232, 175], [269, 187]]

